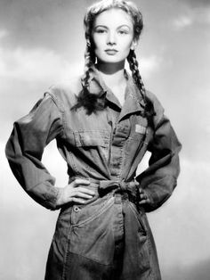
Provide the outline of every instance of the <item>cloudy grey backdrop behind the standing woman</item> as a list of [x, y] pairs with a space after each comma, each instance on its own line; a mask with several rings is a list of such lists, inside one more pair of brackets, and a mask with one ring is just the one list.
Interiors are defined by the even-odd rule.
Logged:
[[[166, 108], [182, 144], [182, 173], [172, 198], [149, 214], [163, 280], [210, 275], [210, 4], [136, 0], [145, 29], [137, 56], [146, 87]], [[44, 277], [58, 212], [33, 202], [12, 176], [4, 145], [19, 119], [61, 79], [83, 70], [83, 15], [91, 1], [0, 1], [0, 279]], [[146, 156], [140, 169], [147, 165]], [[52, 143], [44, 164], [67, 184]]]

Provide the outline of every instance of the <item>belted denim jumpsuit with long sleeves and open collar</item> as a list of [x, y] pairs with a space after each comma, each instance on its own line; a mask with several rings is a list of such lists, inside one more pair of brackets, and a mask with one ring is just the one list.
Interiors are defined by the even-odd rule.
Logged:
[[[42, 164], [44, 146], [56, 139], [68, 165], [69, 183], [90, 181], [93, 199], [61, 207], [49, 251], [45, 280], [160, 280], [156, 246], [146, 212], [173, 193], [181, 149], [155, 95], [152, 122], [142, 117], [144, 101], [125, 72], [125, 104], [93, 68], [90, 92], [105, 95], [107, 106], [87, 114], [72, 110], [82, 90], [80, 78], [52, 86], [27, 116], [14, 123], [6, 156], [14, 176], [38, 203], [56, 210], [61, 189]], [[149, 168], [136, 176], [146, 151]], [[139, 182], [149, 204], [139, 206]]]

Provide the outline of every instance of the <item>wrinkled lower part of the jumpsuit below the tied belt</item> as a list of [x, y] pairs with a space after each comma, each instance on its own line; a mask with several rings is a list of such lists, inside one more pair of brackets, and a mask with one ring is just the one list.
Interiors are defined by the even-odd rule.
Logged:
[[160, 280], [145, 212], [120, 194], [61, 210], [45, 280], [61, 279]]

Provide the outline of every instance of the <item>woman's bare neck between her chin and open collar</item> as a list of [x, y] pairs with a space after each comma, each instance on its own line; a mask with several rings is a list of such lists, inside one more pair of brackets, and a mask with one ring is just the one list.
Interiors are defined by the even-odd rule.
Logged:
[[101, 77], [108, 86], [117, 86], [125, 83], [124, 67], [125, 62], [120, 63], [104, 63], [98, 62], [97, 69], [101, 73]]

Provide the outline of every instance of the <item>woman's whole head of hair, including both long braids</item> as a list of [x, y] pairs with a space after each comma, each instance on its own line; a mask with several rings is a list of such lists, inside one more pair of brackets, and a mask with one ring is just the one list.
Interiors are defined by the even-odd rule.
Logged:
[[[143, 20], [142, 14], [140, 10], [137, 8], [135, 4], [131, 1], [124, 0], [101, 0], [91, 5], [87, 12], [85, 13], [84, 18], [84, 26], [85, 26], [85, 39], [86, 39], [86, 48], [85, 48], [85, 70], [84, 76], [82, 77], [83, 90], [77, 97], [77, 104], [75, 108], [79, 108], [84, 106], [87, 113], [91, 114], [92, 112], [103, 110], [106, 106], [104, 97], [101, 98], [97, 95], [93, 95], [89, 92], [89, 80], [91, 67], [94, 65], [96, 61], [96, 57], [94, 54], [94, 44], [92, 38], [93, 32], [93, 24], [96, 17], [101, 13], [108, 11], [110, 9], [121, 9], [125, 11], [127, 14], [131, 16], [133, 21], [133, 39], [138, 41], [141, 31], [143, 29]], [[130, 70], [132, 72], [133, 81], [138, 86], [141, 96], [145, 102], [144, 115], [151, 115], [151, 104], [146, 100], [145, 96], [145, 87], [143, 85], [140, 71], [138, 69], [138, 62], [136, 59], [136, 55], [133, 50], [130, 50], [130, 53], [127, 56], [127, 62], [129, 63]]]

